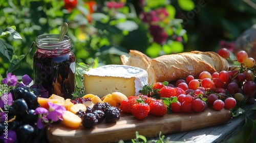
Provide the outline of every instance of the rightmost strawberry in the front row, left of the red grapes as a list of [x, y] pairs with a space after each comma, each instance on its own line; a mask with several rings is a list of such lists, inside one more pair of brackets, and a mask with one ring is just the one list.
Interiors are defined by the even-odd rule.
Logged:
[[150, 103], [150, 115], [163, 116], [167, 113], [167, 107], [161, 102]]

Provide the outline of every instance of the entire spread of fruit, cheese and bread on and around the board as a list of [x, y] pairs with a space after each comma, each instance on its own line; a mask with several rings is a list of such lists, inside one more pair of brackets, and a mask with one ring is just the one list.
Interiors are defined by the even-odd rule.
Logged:
[[[59, 73], [52, 86], [51, 78], [40, 84], [28, 75], [20, 82], [11, 73], [1, 78], [1, 117], [6, 115], [1, 122], [2, 138], [10, 142], [118, 142], [135, 138], [136, 131], [157, 137], [159, 132], [226, 124], [241, 106], [255, 101], [255, 60], [245, 51], [238, 52], [236, 60], [226, 49], [154, 59], [136, 50], [129, 55], [120, 56], [120, 65], [95, 68], [60, 62], [60, 67], [76, 72], [65, 76], [66, 70], [50, 68], [46, 74]], [[41, 68], [40, 60], [35, 66], [35, 74], [47, 69]], [[75, 86], [82, 85], [79, 93], [68, 85], [75, 78]], [[51, 88], [43, 88], [44, 81]]]

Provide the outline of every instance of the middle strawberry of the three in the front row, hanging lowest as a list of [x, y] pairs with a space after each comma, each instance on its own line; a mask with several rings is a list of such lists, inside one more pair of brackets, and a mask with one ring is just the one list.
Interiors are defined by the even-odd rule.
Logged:
[[137, 103], [132, 106], [132, 114], [138, 119], [142, 120], [150, 112], [150, 106], [145, 103]]

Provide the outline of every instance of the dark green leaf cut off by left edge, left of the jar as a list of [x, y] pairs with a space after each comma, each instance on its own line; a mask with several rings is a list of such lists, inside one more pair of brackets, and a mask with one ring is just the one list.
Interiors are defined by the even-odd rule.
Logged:
[[10, 61], [13, 54], [13, 46], [0, 39], [0, 52]]

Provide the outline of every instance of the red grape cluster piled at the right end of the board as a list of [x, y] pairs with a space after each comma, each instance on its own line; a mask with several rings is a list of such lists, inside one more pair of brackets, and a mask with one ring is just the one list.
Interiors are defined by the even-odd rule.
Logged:
[[[230, 52], [225, 48], [220, 49], [218, 54], [226, 59], [230, 57]], [[248, 58], [245, 51], [238, 52], [236, 59], [233, 62], [238, 62], [238, 65], [231, 66], [227, 71], [212, 74], [203, 71], [198, 79], [189, 75], [176, 81], [175, 86], [182, 88], [186, 94], [181, 94], [178, 102], [171, 104], [173, 112], [200, 112], [207, 107], [206, 103], [215, 110], [224, 107], [232, 109], [242, 101], [253, 104], [256, 94], [255, 60]]]

